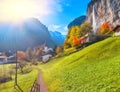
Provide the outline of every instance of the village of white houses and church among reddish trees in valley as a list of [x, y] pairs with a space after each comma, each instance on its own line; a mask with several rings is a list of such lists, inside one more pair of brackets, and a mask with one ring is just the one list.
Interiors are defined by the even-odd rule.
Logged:
[[[23, 53], [23, 51], [17, 51], [17, 55], [16, 53], [12, 53], [12, 51], [8, 51], [6, 53], [0, 52], [0, 64], [15, 63], [16, 58], [21, 58], [23, 60], [28, 58], [28, 56], [26, 57], [25, 53], [23, 53], [24, 55], [21, 56], [21, 52]], [[43, 44], [33, 48], [33, 50], [30, 50], [29, 54], [32, 55], [32, 58], [30, 57], [31, 60], [33, 60], [34, 58], [37, 61], [47, 62], [50, 58], [55, 56], [55, 51], [52, 48], [49, 48], [45, 44]], [[26, 61], [30, 60], [26, 59]]]

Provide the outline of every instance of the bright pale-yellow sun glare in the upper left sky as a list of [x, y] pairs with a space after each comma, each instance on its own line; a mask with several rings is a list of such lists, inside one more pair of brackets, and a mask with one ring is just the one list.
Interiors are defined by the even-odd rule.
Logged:
[[31, 17], [37, 10], [34, 3], [27, 0], [5, 0], [0, 8], [0, 17], [6, 21], [19, 21]]

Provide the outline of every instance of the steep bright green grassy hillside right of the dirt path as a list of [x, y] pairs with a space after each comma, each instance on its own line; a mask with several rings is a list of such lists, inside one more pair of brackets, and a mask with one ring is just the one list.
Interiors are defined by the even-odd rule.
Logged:
[[120, 37], [39, 66], [49, 92], [119, 92]]

